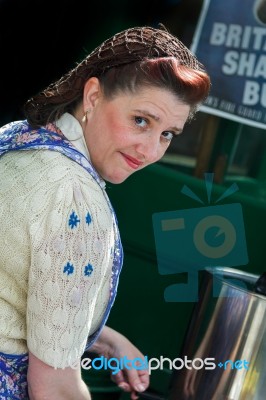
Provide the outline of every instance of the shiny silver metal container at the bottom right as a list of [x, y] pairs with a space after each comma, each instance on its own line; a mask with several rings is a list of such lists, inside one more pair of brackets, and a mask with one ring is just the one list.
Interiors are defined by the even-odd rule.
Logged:
[[266, 399], [266, 297], [254, 292], [258, 278], [205, 270], [170, 400]]

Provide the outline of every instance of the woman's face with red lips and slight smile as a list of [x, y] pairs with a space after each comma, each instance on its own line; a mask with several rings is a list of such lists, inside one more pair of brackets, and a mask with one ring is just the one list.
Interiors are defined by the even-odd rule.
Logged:
[[123, 182], [160, 160], [189, 111], [171, 92], [155, 87], [112, 100], [100, 95], [84, 129], [92, 164], [104, 180]]

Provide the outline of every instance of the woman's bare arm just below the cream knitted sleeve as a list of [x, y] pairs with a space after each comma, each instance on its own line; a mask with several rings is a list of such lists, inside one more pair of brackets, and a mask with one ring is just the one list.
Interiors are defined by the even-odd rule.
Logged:
[[56, 369], [29, 352], [28, 391], [30, 400], [91, 400], [82, 381], [80, 367]]

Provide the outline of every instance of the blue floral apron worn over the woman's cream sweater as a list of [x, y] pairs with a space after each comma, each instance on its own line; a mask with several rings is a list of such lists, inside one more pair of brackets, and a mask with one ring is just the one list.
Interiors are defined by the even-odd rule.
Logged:
[[[0, 129], [0, 156], [8, 151], [34, 149], [59, 151], [85, 168], [102, 188], [103, 194], [113, 215], [115, 248], [109, 302], [100, 327], [88, 338], [86, 346], [86, 349], [88, 349], [97, 339], [104, 327], [117, 293], [119, 274], [123, 264], [123, 248], [120, 240], [117, 218], [104, 190], [104, 182], [89, 160], [64, 137], [63, 133], [55, 125], [48, 124], [45, 128], [32, 129], [29, 127], [27, 121], [24, 120], [11, 122]], [[0, 400], [28, 399], [27, 368], [27, 354], [10, 355], [0, 353]]]

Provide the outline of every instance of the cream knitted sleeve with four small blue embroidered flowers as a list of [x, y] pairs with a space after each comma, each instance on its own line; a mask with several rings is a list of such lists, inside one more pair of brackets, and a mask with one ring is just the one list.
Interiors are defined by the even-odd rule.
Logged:
[[27, 346], [55, 368], [73, 365], [100, 324], [113, 262], [109, 206], [89, 174], [75, 168], [76, 175], [62, 170], [63, 179], [54, 171], [54, 182], [50, 176], [42, 198], [32, 201]]

